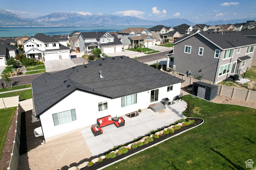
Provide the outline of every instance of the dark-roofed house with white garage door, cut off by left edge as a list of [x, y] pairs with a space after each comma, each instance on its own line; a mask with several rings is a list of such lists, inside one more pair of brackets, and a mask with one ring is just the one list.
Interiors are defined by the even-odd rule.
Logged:
[[18, 53], [18, 47], [9, 44], [0, 44], [0, 66], [6, 66], [10, 57], [15, 57]]

